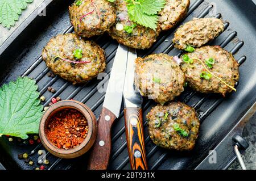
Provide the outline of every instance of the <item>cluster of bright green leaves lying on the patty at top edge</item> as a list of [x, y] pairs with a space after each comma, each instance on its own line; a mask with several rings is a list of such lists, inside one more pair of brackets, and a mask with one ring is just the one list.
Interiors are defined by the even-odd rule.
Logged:
[[166, 0], [125, 0], [129, 19], [144, 27], [156, 30], [158, 12], [163, 9]]

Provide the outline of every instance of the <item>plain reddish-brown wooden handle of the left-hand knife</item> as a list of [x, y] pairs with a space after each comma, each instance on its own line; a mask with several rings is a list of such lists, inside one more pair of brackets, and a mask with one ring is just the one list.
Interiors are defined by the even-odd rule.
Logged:
[[115, 119], [117, 117], [111, 111], [102, 108], [98, 119], [98, 135], [89, 157], [89, 170], [107, 169], [111, 152], [111, 127]]

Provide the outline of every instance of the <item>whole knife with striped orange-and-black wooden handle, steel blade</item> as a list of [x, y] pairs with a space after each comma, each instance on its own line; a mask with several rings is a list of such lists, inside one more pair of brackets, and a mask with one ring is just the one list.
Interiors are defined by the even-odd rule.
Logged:
[[125, 85], [123, 87], [123, 101], [125, 104], [125, 127], [127, 149], [130, 158], [131, 169], [147, 170], [146, 150], [144, 144], [142, 96], [134, 87], [135, 49], [129, 49], [127, 56], [127, 68]]

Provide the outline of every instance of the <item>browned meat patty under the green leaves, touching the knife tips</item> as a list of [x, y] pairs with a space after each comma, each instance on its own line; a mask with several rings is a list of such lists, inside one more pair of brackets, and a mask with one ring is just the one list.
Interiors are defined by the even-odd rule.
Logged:
[[[137, 24], [133, 28], [131, 33], [125, 31], [126, 26], [133, 26], [133, 22], [130, 22], [129, 16], [127, 14], [126, 2], [124, 0], [116, 0], [115, 8], [117, 10], [118, 16], [122, 16], [122, 20], [117, 18], [114, 26], [108, 31], [109, 35], [118, 41], [118, 43], [126, 45], [127, 47], [136, 49], [147, 49], [152, 46], [156, 41], [160, 32], [160, 27], [156, 31], [140, 26]], [[121, 27], [120, 29], [118, 27]]]

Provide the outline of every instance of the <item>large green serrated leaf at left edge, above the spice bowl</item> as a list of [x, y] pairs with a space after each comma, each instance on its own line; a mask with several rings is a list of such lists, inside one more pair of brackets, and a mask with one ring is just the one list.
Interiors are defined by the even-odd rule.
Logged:
[[43, 106], [35, 83], [24, 77], [0, 88], [0, 136], [26, 139], [27, 134], [38, 133]]

